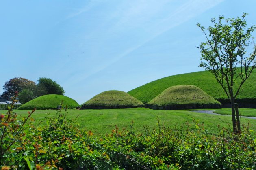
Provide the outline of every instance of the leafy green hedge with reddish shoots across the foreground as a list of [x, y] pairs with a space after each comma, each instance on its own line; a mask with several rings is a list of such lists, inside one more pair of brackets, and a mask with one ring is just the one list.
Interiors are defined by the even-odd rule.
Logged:
[[[80, 130], [74, 119], [57, 112], [46, 118], [44, 127], [28, 117], [17, 121], [11, 110], [1, 116], [0, 166], [13, 169], [256, 169], [256, 139], [249, 126], [241, 134], [219, 127], [212, 136], [204, 125], [169, 129], [158, 120], [158, 127], [134, 133], [118, 127], [101, 138]], [[8, 119], [11, 117], [11, 119]]]

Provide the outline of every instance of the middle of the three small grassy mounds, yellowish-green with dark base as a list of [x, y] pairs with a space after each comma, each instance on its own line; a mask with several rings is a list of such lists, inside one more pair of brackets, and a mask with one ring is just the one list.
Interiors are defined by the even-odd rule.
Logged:
[[135, 108], [144, 107], [144, 104], [138, 99], [130, 96], [124, 91], [104, 91], [84, 104], [81, 108], [87, 109], [108, 109], [108, 108]]

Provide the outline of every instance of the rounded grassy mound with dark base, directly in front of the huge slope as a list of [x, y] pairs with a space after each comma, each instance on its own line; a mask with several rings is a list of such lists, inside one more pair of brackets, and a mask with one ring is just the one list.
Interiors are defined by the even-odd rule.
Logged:
[[150, 102], [146, 108], [152, 109], [200, 109], [221, 108], [221, 103], [194, 85], [177, 85], [165, 89]]

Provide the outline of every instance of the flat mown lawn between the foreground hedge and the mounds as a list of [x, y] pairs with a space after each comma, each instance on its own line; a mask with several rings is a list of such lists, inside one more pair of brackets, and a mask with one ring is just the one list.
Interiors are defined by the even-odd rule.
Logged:
[[[228, 111], [227, 109], [221, 109], [220, 111]], [[241, 109], [244, 110], [244, 109]], [[256, 113], [256, 109], [245, 109], [248, 113]], [[26, 116], [30, 110], [14, 110], [19, 116]], [[41, 125], [45, 124], [49, 117], [56, 116], [57, 110], [36, 110], [33, 113], [35, 123], [41, 122]], [[5, 111], [0, 111], [5, 113]], [[65, 110], [62, 110], [65, 113]], [[76, 119], [76, 117], [78, 118]], [[231, 128], [232, 120], [229, 116], [223, 115], [209, 115], [205, 113], [195, 113], [189, 110], [152, 110], [145, 108], [130, 108], [130, 109], [105, 109], [105, 110], [68, 110], [68, 119], [76, 119], [76, 123], [79, 124], [81, 129], [91, 130], [96, 136], [101, 136], [106, 133], [111, 133], [111, 130], [115, 129], [115, 125], [122, 130], [123, 128], [128, 129], [131, 121], [134, 121], [135, 131], [143, 132], [146, 126], [149, 129], [157, 128], [159, 117], [166, 127], [175, 128], [187, 128], [186, 122], [191, 124], [191, 128], [195, 128], [193, 119], [199, 120], [200, 123], [204, 123], [205, 128], [210, 134], [218, 134], [218, 125], [220, 127]], [[250, 121], [250, 129], [256, 132], [256, 120], [241, 118], [242, 124], [247, 124]]]

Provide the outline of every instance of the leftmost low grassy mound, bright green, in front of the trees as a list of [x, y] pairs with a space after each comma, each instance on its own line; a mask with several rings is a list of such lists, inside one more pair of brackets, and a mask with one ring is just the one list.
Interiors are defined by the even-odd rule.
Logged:
[[39, 96], [29, 102], [23, 104], [18, 109], [56, 109], [63, 101], [63, 107], [67, 105], [68, 108], [76, 108], [79, 104], [67, 96], [58, 95], [58, 94], [48, 94], [44, 96]]

